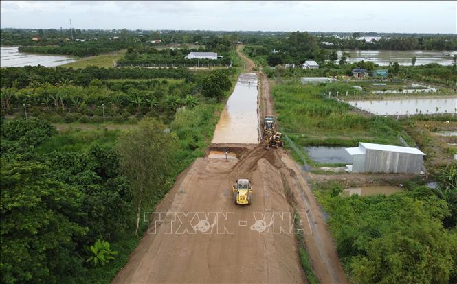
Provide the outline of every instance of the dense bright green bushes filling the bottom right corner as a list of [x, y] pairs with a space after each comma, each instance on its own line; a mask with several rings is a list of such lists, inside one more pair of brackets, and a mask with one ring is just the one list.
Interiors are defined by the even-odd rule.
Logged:
[[457, 164], [436, 190], [410, 182], [391, 196], [342, 197], [334, 182], [315, 187], [330, 215], [339, 258], [355, 283], [457, 281]]

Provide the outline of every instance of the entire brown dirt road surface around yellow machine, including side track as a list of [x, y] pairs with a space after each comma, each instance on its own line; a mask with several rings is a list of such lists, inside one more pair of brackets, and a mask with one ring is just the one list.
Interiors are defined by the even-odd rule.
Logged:
[[[241, 56], [251, 70], [254, 63]], [[267, 78], [258, 78], [263, 117], [273, 105]], [[210, 147], [214, 158], [197, 158], [179, 175], [112, 283], [307, 283], [294, 210], [306, 214], [300, 215], [306, 247], [321, 283], [347, 283], [300, 166], [282, 149], [218, 142]], [[252, 205], [234, 204], [238, 178], [251, 180]]]

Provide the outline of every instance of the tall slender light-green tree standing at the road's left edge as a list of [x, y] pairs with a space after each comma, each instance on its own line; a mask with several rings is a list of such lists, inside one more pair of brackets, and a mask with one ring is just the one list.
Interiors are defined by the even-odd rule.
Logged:
[[154, 119], [143, 119], [140, 124], [120, 137], [115, 150], [120, 156], [122, 174], [132, 187], [132, 201], [136, 211], [135, 235], [140, 228], [142, 211], [164, 192], [166, 178], [174, 168], [177, 138], [166, 133], [165, 126]]

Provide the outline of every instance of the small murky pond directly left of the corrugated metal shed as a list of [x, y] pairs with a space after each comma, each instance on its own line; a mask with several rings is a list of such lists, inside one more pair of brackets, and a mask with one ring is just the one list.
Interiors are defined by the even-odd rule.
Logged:
[[313, 146], [304, 147], [309, 158], [316, 163], [325, 164], [350, 164], [353, 163], [351, 156], [345, 150], [346, 147]]

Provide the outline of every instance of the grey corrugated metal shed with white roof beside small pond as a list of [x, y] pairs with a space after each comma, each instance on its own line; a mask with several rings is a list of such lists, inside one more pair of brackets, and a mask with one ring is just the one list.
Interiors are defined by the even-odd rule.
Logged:
[[423, 156], [419, 149], [392, 145], [359, 143], [359, 147], [346, 148], [353, 157], [348, 166], [355, 173], [407, 173], [420, 174]]

